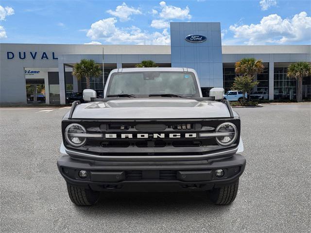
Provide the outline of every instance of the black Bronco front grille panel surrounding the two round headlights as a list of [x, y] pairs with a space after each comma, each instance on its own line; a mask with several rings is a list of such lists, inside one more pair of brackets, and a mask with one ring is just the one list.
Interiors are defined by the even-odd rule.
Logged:
[[[179, 119], [177, 120], [80, 120], [63, 121], [63, 131], [70, 123], [78, 123], [87, 133], [102, 133], [102, 138], [87, 138], [79, 148], [64, 144], [70, 150], [99, 155], [187, 155], [205, 154], [237, 147], [217, 144], [214, 137], [200, 137], [200, 133], [214, 133], [217, 126], [232, 122], [240, 134], [240, 119]], [[138, 136], [139, 134], [139, 136]]]

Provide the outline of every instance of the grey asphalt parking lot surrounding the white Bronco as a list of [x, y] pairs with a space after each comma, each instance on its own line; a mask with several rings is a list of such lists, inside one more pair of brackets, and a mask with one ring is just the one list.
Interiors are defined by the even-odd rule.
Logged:
[[77, 207], [56, 167], [69, 110], [0, 108], [0, 232], [310, 232], [311, 105], [234, 110], [247, 164], [231, 205], [205, 193], [118, 193]]

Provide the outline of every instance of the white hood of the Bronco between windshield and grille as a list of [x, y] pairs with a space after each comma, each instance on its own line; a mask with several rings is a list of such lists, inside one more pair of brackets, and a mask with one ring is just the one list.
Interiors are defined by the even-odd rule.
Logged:
[[177, 98], [121, 99], [77, 105], [72, 118], [167, 119], [230, 117], [224, 103]]

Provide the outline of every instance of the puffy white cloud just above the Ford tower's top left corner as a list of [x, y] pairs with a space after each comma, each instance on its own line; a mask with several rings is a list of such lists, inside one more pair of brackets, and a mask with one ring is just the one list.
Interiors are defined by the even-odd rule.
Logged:
[[165, 1], [160, 2], [161, 12], [159, 16], [164, 19], [190, 19], [191, 15], [189, 15], [190, 9], [186, 6], [185, 9], [181, 9], [177, 6], [166, 5]]

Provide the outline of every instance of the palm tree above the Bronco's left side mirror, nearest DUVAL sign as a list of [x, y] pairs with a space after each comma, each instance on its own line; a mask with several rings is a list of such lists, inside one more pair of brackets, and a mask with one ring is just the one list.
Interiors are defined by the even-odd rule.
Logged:
[[74, 64], [72, 75], [78, 80], [86, 78], [86, 89], [90, 88], [90, 78], [97, 77], [102, 74], [101, 67], [94, 60], [82, 59], [80, 63]]

